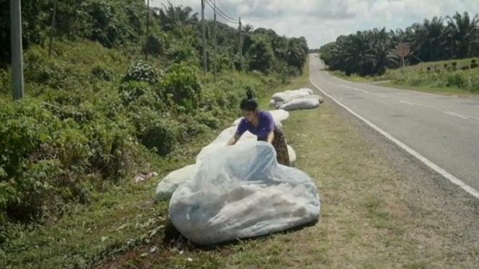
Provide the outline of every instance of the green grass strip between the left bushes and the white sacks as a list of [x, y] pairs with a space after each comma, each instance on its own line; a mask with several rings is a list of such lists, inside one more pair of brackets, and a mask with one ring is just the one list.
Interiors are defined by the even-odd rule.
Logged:
[[[3, 249], [0, 265], [8, 268], [90, 268], [92, 264], [164, 233], [168, 203], [154, 205], [154, 190], [169, 171], [194, 162], [201, 145], [213, 133], [184, 145], [190, 153], [151, 160], [159, 176], [142, 183], [126, 183], [96, 194], [90, 205], [78, 205], [58, 222], [20, 231]], [[2, 267], [3, 267], [2, 266]]]

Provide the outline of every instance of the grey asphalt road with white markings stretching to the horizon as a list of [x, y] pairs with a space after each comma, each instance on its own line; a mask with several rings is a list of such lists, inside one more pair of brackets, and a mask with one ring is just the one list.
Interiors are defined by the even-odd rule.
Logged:
[[479, 190], [479, 98], [348, 82], [323, 70], [316, 54], [309, 65], [311, 82], [334, 100]]

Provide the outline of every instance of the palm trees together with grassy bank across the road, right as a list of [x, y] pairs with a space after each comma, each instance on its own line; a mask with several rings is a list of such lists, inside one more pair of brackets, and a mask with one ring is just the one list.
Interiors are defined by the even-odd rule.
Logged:
[[[349, 36], [320, 49], [332, 75], [354, 82], [387, 81], [420, 91], [479, 93], [479, 15], [456, 13], [434, 17], [406, 29], [374, 29]], [[395, 52], [407, 43], [411, 54], [401, 59]]]

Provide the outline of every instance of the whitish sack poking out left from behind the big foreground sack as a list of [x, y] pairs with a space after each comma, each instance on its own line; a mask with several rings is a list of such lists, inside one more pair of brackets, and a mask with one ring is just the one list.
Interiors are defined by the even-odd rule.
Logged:
[[156, 187], [155, 201], [165, 201], [170, 199], [171, 194], [175, 192], [179, 185], [192, 180], [198, 170], [197, 164], [192, 164], [182, 169], [172, 171], [168, 176], [165, 176]]

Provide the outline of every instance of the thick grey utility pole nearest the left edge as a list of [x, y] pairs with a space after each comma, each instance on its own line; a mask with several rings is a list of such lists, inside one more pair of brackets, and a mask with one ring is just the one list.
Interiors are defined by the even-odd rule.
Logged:
[[24, 97], [21, 6], [20, 0], [10, 0], [13, 100], [19, 100]]

